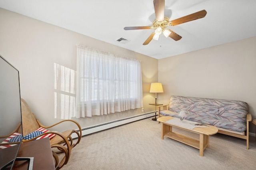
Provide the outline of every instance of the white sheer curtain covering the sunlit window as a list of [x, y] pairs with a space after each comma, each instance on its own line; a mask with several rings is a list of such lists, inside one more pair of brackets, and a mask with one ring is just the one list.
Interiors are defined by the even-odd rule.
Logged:
[[76, 118], [143, 107], [140, 61], [77, 45]]

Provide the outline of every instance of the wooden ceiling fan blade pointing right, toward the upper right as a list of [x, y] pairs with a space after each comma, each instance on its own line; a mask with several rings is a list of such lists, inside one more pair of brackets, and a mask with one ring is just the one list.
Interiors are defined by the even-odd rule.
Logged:
[[172, 20], [172, 21], [170, 21], [170, 25], [171, 26], [176, 26], [176, 25], [179, 25], [179, 24], [183, 24], [185, 22], [189, 22], [189, 21], [200, 19], [200, 18], [204, 18], [206, 16], [206, 14], [207, 14], [206, 10], [198, 11], [198, 12], [195, 12], [193, 14], [178, 18], [176, 20]]

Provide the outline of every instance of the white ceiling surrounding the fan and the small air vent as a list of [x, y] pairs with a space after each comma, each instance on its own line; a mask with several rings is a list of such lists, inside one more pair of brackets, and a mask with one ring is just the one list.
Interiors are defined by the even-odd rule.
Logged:
[[[156, 59], [256, 36], [256, 0], [165, 0], [170, 20], [206, 10], [204, 18], [168, 27], [179, 41], [160, 36], [142, 45], [154, 30], [153, 0], [0, 0], [0, 8], [41, 20]], [[125, 38], [129, 42], [116, 42]]]

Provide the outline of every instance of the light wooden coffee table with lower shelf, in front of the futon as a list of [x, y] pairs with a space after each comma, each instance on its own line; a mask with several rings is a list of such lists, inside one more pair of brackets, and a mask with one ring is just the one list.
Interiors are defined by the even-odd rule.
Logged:
[[[174, 119], [174, 117], [164, 116], [159, 117], [157, 121], [161, 123], [161, 139], [164, 139], [164, 136], [192, 146], [194, 148], [199, 149], [199, 155], [204, 156], [204, 149], [209, 148], [209, 136], [212, 134], [216, 134], [218, 132], [218, 128], [214, 126], [207, 125], [208, 127], [196, 127], [193, 129], [181, 127], [178, 125], [172, 125], [170, 123], [166, 123], [170, 119]], [[176, 118], [177, 119], [177, 118]], [[196, 122], [195, 122], [196, 123]], [[172, 127], [180, 128], [183, 130], [187, 130], [190, 132], [194, 132], [200, 134], [200, 139], [196, 140], [190, 138], [188, 136], [184, 136], [182, 134], [172, 132]]]

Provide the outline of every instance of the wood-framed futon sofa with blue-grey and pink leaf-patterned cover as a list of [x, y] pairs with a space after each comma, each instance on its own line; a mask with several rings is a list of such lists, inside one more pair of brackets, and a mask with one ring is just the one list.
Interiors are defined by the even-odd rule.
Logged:
[[248, 104], [243, 101], [207, 99], [199, 97], [171, 96], [169, 104], [158, 106], [159, 117], [180, 118], [180, 111], [185, 112], [184, 119], [212, 125], [218, 133], [246, 139], [249, 149]]

